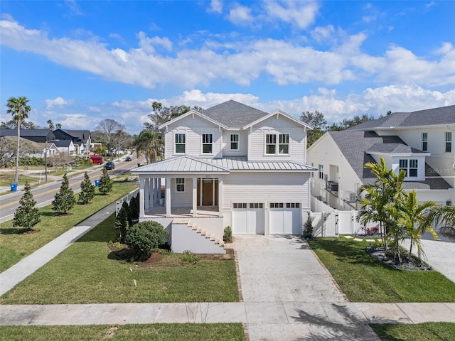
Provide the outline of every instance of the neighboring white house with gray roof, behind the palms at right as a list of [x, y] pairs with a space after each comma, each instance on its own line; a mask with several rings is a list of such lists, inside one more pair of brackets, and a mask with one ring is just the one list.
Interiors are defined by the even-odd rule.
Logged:
[[338, 210], [360, 208], [360, 186], [374, 183], [365, 163], [384, 158], [395, 173], [405, 170], [404, 188], [420, 202], [455, 200], [455, 106], [397, 112], [345, 131], [328, 131], [308, 148], [318, 168], [311, 194]]

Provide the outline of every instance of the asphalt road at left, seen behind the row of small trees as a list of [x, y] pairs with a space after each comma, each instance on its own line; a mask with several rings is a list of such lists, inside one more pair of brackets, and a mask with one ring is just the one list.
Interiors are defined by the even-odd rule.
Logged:
[[[110, 178], [115, 178], [115, 176], [128, 173], [133, 168], [137, 168], [138, 163], [143, 163], [143, 158], [133, 158], [133, 161], [114, 161], [115, 169], [109, 172]], [[93, 166], [90, 169], [87, 169], [87, 173], [90, 176], [90, 180], [94, 183], [95, 180], [100, 179], [102, 175], [102, 168], [104, 166]], [[80, 192], [80, 183], [84, 180], [84, 173], [77, 173], [77, 175], [69, 177], [68, 181], [70, 183], [70, 188], [74, 190], [75, 193]], [[40, 185], [32, 189], [33, 198], [36, 200], [36, 207], [43, 207], [50, 205], [50, 202], [54, 199], [55, 193], [60, 190], [62, 180], [56, 180], [45, 185]], [[17, 207], [19, 206], [19, 200], [23, 195], [23, 190], [18, 190], [17, 192], [11, 192], [6, 195], [0, 196], [0, 223], [6, 222], [13, 219], [14, 212], [16, 212]]]

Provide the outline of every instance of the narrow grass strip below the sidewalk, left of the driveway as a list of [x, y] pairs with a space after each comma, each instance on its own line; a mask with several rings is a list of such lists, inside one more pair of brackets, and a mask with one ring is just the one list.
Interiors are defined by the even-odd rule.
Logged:
[[245, 340], [240, 323], [169, 323], [153, 325], [0, 326], [1, 340]]

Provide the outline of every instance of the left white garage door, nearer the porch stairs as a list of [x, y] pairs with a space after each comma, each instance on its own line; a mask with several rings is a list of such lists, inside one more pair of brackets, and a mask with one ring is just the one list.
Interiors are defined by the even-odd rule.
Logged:
[[232, 208], [233, 234], [264, 234], [264, 204], [235, 202]]

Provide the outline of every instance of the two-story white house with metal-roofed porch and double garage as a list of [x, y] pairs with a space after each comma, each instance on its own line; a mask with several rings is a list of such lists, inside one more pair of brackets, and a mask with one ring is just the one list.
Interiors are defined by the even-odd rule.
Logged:
[[316, 170], [306, 165], [310, 126], [230, 100], [160, 129], [166, 129], [165, 160], [133, 173], [140, 181], [139, 220], [170, 230], [173, 251], [215, 252], [200, 246], [207, 244], [202, 234], [219, 250], [227, 226], [233, 234], [301, 234]]

